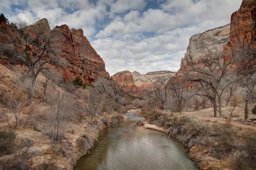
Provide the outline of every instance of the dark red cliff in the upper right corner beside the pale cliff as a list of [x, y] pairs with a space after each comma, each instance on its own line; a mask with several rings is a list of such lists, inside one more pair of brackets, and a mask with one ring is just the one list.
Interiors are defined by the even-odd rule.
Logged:
[[[230, 42], [225, 47], [225, 57], [234, 58], [244, 55], [244, 51], [250, 51], [255, 55], [255, 30], [256, 1], [243, 0], [240, 9], [231, 15]], [[240, 65], [238, 64], [237, 67]]]

